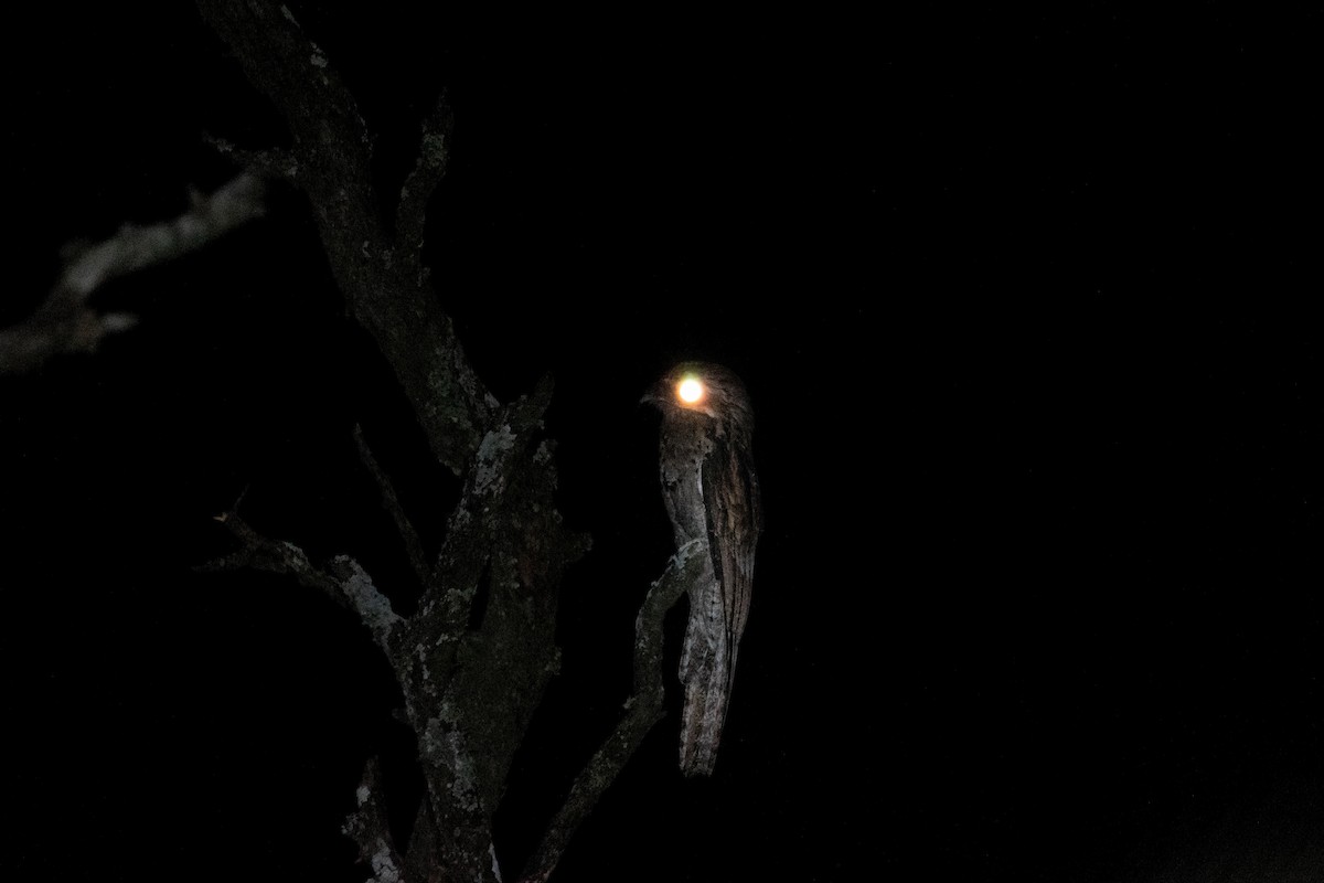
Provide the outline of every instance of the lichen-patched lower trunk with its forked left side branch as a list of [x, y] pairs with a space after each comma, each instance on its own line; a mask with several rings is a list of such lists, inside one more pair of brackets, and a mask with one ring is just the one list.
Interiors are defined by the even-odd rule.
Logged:
[[[242, 548], [208, 567], [294, 575], [355, 610], [395, 669], [428, 782], [426, 826], [410, 867], [495, 879], [491, 817], [534, 710], [557, 671], [556, 601], [584, 541], [560, 527], [555, 470], [540, 438], [549, 379], [500, 413], [466, 469], [442, 561], [418, 612], [402, 620], [352, 559], [316, 568], [302, 549], [262, 536], [233, 510], [220, 520]], [[487, 571], [478, 627], [471, 621]], [[604, 784], [605, 786], [605, 784]], [[420, 810], [422, 812], [422, 810]], [[372, 841], [373, 850], [380, 843]], [[462, 871], [461, 871], [462, 870]]]

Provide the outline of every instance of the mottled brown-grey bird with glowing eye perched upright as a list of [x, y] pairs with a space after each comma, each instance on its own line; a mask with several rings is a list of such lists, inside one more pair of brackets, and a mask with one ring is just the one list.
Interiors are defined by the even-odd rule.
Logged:
[[753, 408], [735, 373], [699, 361], [673, 368], [643, 401], [662, 410], [662, 498], [675, 545], [695, 539], [708, 544], [703, 576], [688, 586], [690, 620], [681, 651], [681, 772], [708, 774], [749, 617], [753, 552], [763, 530], [749, 451]]

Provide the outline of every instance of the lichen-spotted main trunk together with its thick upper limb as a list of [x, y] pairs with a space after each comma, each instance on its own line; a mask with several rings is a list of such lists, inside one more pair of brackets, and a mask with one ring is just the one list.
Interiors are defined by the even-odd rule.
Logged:
[[[433, 454], [463, 482], [418, 610], [385, 647], [418, 739], [428, 793], [420, 818], [430, 819], [426, 837], [400, 858], [414, 874], [494, 880], [493, 814], [557, 671], [561, 573], [587, 548], [561, 526], [553, 500], [552, 446], [542, 428], [551, 383], [498, 402], [428, 282], [420, 245], [446, 165], [445, 102], [424, 120], [399, 199], [384, 199], [354, 97], [289, 9], [266, 0], [197, 5], [283, 116], [293, 136], [286, 164], [297, 168], [293, 183], [308, 197], [348, 312], [391, 365]], [[291, 572], [301, 568], [295, 561]]]

